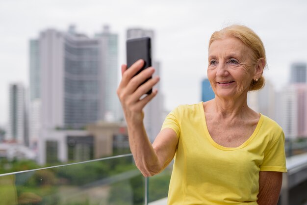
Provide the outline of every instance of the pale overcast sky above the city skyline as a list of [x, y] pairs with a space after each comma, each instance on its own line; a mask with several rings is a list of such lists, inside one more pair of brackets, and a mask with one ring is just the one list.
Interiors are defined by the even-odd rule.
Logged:
[[262, 39], [268, 70], [264, 76], [281, 89], [292, 62], [307, 62], [305, 0], [0, 0], [0, 125], [7, 122], [8, 85], [28, 86], [28, 41], [46, 28], [92, 37], [108, 24], [119, 34], [119, 70], [125, 63], [130, 27], [155, 31], [165, 108], [201, 100], [211, 33], [231, 24], [251, 27]]

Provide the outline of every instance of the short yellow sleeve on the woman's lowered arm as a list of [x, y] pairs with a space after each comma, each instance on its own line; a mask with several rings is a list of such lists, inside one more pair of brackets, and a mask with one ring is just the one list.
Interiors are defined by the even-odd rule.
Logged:
[[283, 131], [281, 131], [281, 134], [273, 142], [272, 146], [268, 146], [264, 151], [260, 171], [287, 172]]

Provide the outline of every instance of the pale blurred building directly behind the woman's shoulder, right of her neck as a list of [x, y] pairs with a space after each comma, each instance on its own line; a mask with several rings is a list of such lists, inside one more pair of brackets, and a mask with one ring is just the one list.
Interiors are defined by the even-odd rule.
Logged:
[[276, 119], [275, 116], [275, 89], [273, 84], [266, 80], [262, 89], [248, 92], [247, 103], [256, 112]]

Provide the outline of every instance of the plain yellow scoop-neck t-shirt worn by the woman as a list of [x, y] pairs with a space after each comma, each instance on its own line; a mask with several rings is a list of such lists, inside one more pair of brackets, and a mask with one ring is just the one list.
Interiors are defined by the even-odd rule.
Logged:
[[163, 128], [172, 128], [179, 140], [168, 205], [257, 205], [259, 171], [287, 171], [283, 131], [264, 115], [236, 148], [213, 141], [203, 102], [178, 106]]

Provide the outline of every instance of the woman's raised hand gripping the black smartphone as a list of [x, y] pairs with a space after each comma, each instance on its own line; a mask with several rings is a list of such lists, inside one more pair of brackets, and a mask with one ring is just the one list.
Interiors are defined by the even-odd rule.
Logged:
[[143, 65], [143, 60], [136, 61], [129, 69], [127, 69], [127, 65], [122, 65], [122, 80], [117, 89], [117, 95], [122, 104], [128, 124], [143, 121], [143, 108], [157, 94], [157, 90], [154, 89], [150, 95], [141, 99], [159, 81], [159, 77], [153, 77], [142, 84], [154, 73], [154, 68], [150, 67], [143, 70], [137, 76], [134, 76]]

